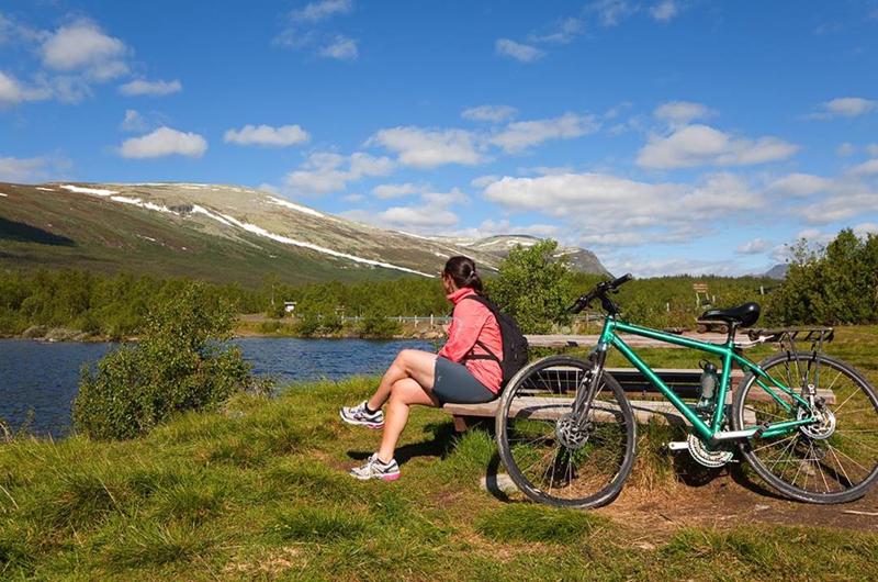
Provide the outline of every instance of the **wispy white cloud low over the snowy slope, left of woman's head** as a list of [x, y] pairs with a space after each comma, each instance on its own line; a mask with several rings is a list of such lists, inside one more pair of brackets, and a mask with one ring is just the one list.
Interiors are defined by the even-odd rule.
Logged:
[[386, 176], [394, 163], [387, 157], [375, 157], [357, 152], [350, 156], [329, 152], [311, 154], [302, 166], [284, 178], [286, 190], [293, 195], [328, 194], [347, 188], [348, 182], [367, 176]]

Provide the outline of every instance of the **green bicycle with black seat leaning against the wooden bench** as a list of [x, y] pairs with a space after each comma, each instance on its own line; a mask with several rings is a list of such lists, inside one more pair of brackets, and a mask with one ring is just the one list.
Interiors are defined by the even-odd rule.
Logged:
[[[725, 324], [728, 338], [723, 344], [699, 342], [624, 322], [610, 294], [629, 280], [627, 275], [599, 283], [571, 307], [578, 313], [599, 301], [606, 312], [587, 360], [542, 358], [520, 370], [504, 392], [497, 444], [509, 475], [527, 496], [559, 506], [597, 507], [622, 490], [634, 463], [638, 418], [619, 382], [605, 370], [610, 347], [685, 418], [687, 439], [669, 443], [671, 449], [686, 449], [707, 467], [722, 467], [740, 450], [765, 482], [803, 502], [844, 503], [866, 493], [878, 479], [878, 396], [852, 366], [822, 354], [831, 328], [751, 333], [754, 343], [787, 346], [754, 363], [735, 343], [735, 333], [756, 323], [758, 304], [705, 313], [702, 318]], [[620, 332], [707, 352], [721, 366], [706, 366], [699, 398], [686, 402]], [[797, 348], [799, 332], [807, 332], [811, 349]], [[730, 391], [733, 365], [745, 376]]]

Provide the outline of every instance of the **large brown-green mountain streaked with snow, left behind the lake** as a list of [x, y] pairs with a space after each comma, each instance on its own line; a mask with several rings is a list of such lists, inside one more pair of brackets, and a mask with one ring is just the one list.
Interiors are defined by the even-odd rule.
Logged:
[[0, 183], [0, 266], [126, 270], [259, 284], [432, 277], [500, 256], [385, 231], [236, 186]]

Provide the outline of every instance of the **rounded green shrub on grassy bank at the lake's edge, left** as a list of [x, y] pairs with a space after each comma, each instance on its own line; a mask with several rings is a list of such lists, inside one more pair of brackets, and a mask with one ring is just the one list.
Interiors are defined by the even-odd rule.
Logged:
[[200, 283], [159, 302], [137, 345], [122, 346], [82, 370], [74, 426], [98, 439], [133, 438], [172, 414], [210, 410], [252, 380], [230, 338], [235, 315]]

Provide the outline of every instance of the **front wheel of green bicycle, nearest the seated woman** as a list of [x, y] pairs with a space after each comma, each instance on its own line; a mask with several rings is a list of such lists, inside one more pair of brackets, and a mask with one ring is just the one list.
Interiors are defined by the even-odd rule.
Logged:
[[530, 499], [564, 507], [597, 507], [622, 490], [634, 462], [635, 422], [622, 388], [603, 374], [588, 414], [574, 401], [593, 366], [550, 356], [509, 382], [497, 412], [497, 445], [509, 477]]

